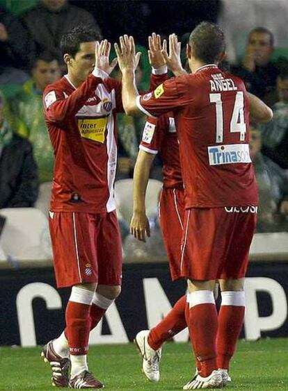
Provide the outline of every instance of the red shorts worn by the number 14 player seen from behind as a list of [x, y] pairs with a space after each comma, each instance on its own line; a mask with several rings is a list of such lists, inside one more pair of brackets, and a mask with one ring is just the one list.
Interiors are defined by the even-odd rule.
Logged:
[[182, 276], [202, 281], [245, 277], [256, 220], [255, 206], [187, 209]]

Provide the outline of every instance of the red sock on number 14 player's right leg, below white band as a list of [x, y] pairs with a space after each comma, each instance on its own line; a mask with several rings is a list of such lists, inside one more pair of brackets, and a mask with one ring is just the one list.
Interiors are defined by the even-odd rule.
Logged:
[[244, 306], [221, 306], [218, 315], [217, 367], [229, 369], [243, 326]]

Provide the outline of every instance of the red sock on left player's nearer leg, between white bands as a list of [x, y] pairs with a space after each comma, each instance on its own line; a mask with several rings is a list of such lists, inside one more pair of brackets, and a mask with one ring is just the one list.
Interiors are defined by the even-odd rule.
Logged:
[[70, 354], [87, 354], [90, 332], [90, 306], [68, 301], [66, 307], [65, 335], [69, 342]]

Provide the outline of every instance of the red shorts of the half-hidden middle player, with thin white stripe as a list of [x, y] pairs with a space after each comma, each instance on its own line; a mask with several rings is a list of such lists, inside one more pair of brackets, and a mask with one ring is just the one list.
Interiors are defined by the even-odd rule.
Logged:
[[173, 281], [181, 277], [180, 255], [184, 213], [184, 190], [163, 189], [159, 204], [159, 218]]

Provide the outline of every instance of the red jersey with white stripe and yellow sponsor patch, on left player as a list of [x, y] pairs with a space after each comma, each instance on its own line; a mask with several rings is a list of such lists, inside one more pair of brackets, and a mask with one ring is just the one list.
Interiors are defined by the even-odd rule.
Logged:
[[55, 153], [51, 210], [111, 212], [121, 83], [91, 74], [75, 88], [64, 76], [45, 89], [43, 103]]

